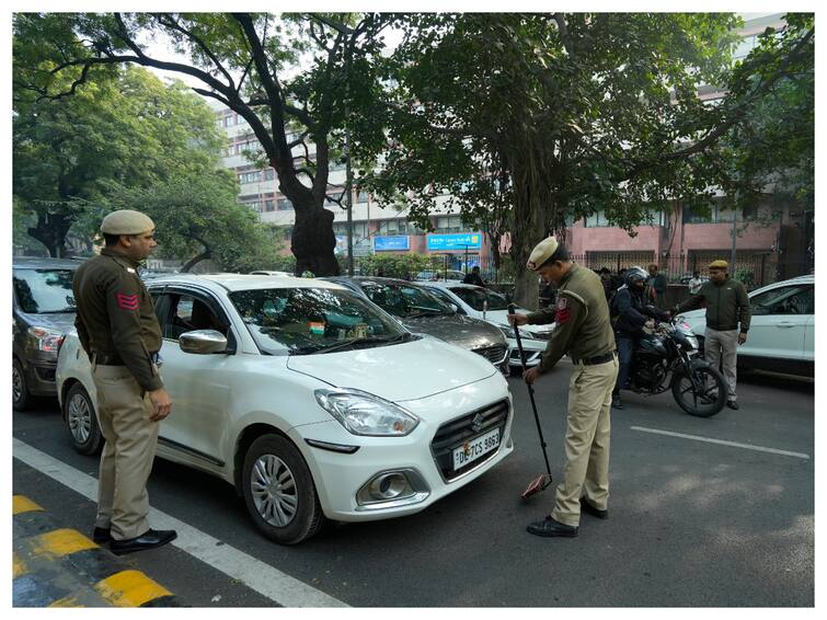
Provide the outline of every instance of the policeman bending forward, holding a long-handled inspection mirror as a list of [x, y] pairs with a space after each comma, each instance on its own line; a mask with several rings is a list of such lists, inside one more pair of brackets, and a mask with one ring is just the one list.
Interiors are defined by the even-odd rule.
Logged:
[[551, 323], [556, 326], [539, 366], [526, 370], [533, 383], [565, 353], [574, 370], [568, 382], [565, 475], [558, 485], [554, 509], [526, 529], [537, 536], [577, 536], [581, 509], [605, 519], [609, 500], [609, 411], [618, 376], [614, 332], [600, 278], [574, 264], [553, 237], [531, 252], [528, 268], [559, 288], [554, 311], [513, 314], [512, 323]]

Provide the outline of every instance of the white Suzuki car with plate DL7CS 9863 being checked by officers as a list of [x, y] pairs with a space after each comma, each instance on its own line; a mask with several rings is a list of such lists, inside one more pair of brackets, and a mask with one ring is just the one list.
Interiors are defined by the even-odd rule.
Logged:
[[[233, 484], [272, 540], [417, 513], [514, 450], [508, 386], [489, 360], [411, 334], [343, 286], [218, 274], [149, 290], [173, 402], [158, 456]], [[94, 451], [76, 334], [57, 382], [76, 448]]]

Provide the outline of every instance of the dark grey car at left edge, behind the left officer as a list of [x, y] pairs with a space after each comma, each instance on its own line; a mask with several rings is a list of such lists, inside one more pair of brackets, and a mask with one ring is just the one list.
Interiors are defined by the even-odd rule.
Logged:
[[74, 326], [72, 277], [81, 261], [12, 259], [12, 405], [57, 395], [55, 369], [64, 335]]

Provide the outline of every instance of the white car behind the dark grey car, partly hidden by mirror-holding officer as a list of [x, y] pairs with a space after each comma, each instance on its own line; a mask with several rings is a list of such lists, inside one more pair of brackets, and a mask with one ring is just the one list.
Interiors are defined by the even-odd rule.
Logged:
[[[472, 284], [427, 282], [420, 283], [420, 285], [426, 287], [443, 301], [456, 306], [458, 312], [474, 319], [482, 319], [499, 328], [505, 337], [508, 338], [508, 366], [513, 370], [521, 368], [517, 338], [514, 335], [514, 328], [508, 324], [508, 301], [503, 295]], [[531, 311], [516, 307], [515, 312], [528, 314]], [[545, 351], [553, 331], [554, 323], [519, 328], [527, 367], [530, 368], [540, 364], [540, 356]]]

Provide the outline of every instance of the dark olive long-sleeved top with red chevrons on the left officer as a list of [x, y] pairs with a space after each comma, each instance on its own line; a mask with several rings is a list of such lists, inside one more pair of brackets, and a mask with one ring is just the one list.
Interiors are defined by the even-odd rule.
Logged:
[[138, 264], [107, 248], [83, 263], [72, 282], [74, 325], [87, 355], [119, 357], [141, 388], [163, 387], [150, 355], [161, 348], [161, 325]]

